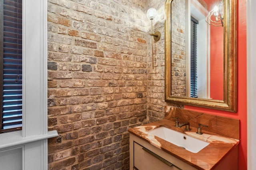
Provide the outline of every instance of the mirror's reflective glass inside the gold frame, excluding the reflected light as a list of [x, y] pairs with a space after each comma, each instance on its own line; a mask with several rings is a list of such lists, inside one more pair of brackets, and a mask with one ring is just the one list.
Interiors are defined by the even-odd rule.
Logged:
[[223, 100], [223, 27], [206, 22], [218, 3], [172, 1], [173, 96]]

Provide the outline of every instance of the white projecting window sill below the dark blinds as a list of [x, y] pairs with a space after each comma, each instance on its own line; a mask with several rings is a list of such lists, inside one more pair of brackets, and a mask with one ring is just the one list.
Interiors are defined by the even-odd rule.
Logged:
[[22, 131], [2, 133], [0, 134], [0, 138], [1, 138], [0, 150], [4, 150], [10, 147], [16, 147], [16, 146], [24, 145], [26, 143], [40, 141], [40, 140], [44, 140], [44, 139], [48, 139], [56, 136], [58, 136], [58, 132], [56, 130], [48, 131], [48, 134], [34, 135], [29, 137], [22, 137]]

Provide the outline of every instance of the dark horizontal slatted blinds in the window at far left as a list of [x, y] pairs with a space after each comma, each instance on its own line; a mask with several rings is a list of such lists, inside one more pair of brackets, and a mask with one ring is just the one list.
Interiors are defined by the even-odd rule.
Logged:
[[[22, 126], [22, 0], [4, 0], [2, 24], [2, 132]], [[19, 80], [16, 82], [17, 75]]]

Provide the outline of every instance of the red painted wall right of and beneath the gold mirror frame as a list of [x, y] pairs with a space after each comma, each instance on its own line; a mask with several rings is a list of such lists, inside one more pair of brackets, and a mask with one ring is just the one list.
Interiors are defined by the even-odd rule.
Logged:
[[[185, 109], [240, 119], [239, 170], [247, 169], [246, 0], [237, 0], [237, 113], [185, 106]], [[228, 128], [228, 127], [227, 127]]]

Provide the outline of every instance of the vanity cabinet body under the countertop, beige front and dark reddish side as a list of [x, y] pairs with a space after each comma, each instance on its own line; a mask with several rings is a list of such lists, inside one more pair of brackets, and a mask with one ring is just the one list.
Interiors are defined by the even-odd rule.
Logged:
[[[209, 157], [204, 163], [205, 168], [198, 169], [238, 170], [238, 145], [213, 167], [209, 164], [210, 161]], [[199, 163], [202, 164], [202, 161], [199, 160]], [[130, 170], [197, 170], [197, 168], [130, 133]]]

